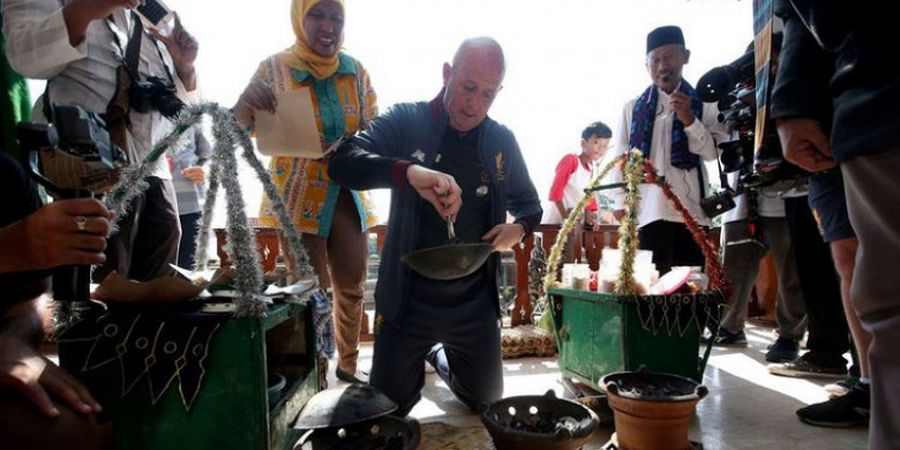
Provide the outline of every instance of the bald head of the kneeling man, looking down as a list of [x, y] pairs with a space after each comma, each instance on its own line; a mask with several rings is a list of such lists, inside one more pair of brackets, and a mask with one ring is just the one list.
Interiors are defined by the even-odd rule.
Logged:
[[453, 65], [444, 64], [444, 109], [453, 129], [468, 132], [481, 124], [505, 73], [503, 48], [497, 41], [489, 37], [463, 41]]

